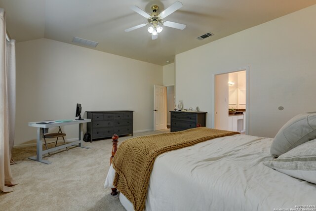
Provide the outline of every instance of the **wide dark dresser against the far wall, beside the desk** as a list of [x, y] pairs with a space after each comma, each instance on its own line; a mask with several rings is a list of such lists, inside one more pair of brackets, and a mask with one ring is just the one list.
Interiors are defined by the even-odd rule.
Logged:
[[91, 135], [91, 141], [96, 138], [111, 137], [132, 134], [133, 136], [133, 112], [134, 111], [87, 111], [87, 133]]

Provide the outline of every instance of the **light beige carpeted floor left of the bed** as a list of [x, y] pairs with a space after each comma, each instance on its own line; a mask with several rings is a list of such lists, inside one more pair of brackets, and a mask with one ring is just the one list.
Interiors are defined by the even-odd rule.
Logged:
[[[134, 133], [134, 136], [169, 132], [159, 130]], [[123, 136], [122, 141], [131, 138]], [[46, 157], [49, 165], [28, 157], [36, 155], [36, 147], [15, 148], [11, 166], [19, 183], [11, 193], [0, 192], [2, 211], [125, 211], [118, 196], [104, 188], [110, 167], [112, 139], [83, 143], [90, 149], [72, 147]]]

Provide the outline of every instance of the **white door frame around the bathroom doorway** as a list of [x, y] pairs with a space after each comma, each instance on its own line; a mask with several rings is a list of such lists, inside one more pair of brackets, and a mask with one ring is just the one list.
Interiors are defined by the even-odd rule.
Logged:
[[225, 71], [225, 72], [218, 72], [212, 74], [212, 83], [213, 83], [213, 92], [212, 92], [212, 98], [213, 98], [213, 111], [212, 111], [212, 126], [213, 128], [215, 127], [215, 76], [216, 75], [222, 75], [222, 74], [229, 74], [229, 73], [234, 73], [234, 72], [239, 72], [239, 71], [246, 71], [246, 135], [249, 135], [249, 66], [247, 67], [242, 67], [242, 68], [237, 68], [233, 69], [230, 71]]

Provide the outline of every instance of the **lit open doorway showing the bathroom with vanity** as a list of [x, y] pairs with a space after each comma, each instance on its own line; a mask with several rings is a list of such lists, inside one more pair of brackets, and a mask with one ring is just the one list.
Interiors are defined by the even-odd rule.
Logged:
[[215, 75], [214, 128], [249, 134], [248, 68]]

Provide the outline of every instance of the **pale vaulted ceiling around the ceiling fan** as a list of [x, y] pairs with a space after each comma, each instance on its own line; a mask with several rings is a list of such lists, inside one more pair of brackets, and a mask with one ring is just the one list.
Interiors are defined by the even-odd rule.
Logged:
[[[131, 6], [151, 13], [156, 4], [161, 12], [175, 1], [0, 0], [0, 7], [6, 12], [7, 31], [17, 42], [47, 38], [74, 44], [74, 37], [79, 37], [99, 42], [93, 48], [99, 51], [165, 65], [178, 53], [316, 4], [316, 0], [180, 0], [183, 7], [165, 20], [186, 24], [184, 30], [164, 26], [156, 40], [148, 26], [124, 31], [147, 22]], [[208, 32], [214, 35], [197, 40]]]

